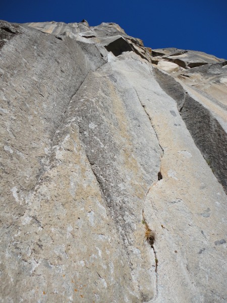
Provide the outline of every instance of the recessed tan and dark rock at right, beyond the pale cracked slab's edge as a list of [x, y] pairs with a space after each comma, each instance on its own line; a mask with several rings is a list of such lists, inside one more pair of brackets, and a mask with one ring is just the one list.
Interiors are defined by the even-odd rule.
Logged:
[[191, 69], [180, 69], [179, 66], [179, 71], [168, 66], [173, 63], [165, 61], [166, 57], [157, 56], [160, 55], [159, 49], [152, 52], [155, 58], [159, 58], [157, 68], [154, 69], [155, 79], [177, 101], [178, 110], [197, 147], [226, 192], [227, 61], [203, 53], [200, 55], [200, 52], [162, 49], [167, 54], [183, 53], [184, 58], [188, 56], [191, 60], [195, 59], [195, 62], [198, 56], [206, 59], [206, 65]]

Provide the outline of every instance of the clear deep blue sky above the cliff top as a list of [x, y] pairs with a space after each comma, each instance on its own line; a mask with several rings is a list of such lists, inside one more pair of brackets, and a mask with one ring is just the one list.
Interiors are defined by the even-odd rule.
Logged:
[[193, 49], [227, 59], [227, 0], [2, 0], [0, 19], [115, 22], [151, 48]]

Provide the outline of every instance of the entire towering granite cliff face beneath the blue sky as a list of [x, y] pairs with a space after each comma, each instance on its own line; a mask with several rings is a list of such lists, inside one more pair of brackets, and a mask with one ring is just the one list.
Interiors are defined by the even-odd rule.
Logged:
[[115, 23], [0, 23], [1, 302], [226, 302], [227, 62]]

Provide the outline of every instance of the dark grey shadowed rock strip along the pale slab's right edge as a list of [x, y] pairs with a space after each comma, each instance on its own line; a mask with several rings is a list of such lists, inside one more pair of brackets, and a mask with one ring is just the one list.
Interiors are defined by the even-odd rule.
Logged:
[[209, 109], [190, 96], [173, 77], [157, 68], [154, 68], [154, 73], [162, 89], [177, 101], [178, 110], [195, 144], [227, 192], [227, 134], [223, 127]]

